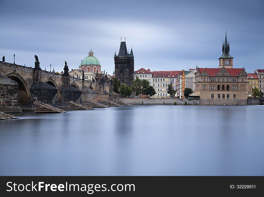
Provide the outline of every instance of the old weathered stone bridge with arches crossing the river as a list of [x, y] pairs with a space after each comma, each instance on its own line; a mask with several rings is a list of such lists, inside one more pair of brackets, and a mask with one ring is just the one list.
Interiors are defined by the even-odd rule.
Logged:
[[[22, 109], [32, 109], [38, 100], [53, 106], [68, 107], [68, 101], [88, 104], [98, 97], [109, 100], [111, 85], [73, 78], [68, 74], [56, 74], [35, 67], [26, 67], [0, 61], [0, 74], [19, 84], [18, 103]], [[110, 93], [109, 93], [110, 92]]]

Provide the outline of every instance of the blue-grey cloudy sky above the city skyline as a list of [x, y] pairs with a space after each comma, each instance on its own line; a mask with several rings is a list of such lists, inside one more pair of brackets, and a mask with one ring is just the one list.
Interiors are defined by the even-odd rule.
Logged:
[[61, 72], [78, 68], [90, 49], [113, 73], [120, 37], [135, 70], [218, 67], [227, 30], [234, 68], [263, 69], [264, 1], [0, 0], [0, 56]]

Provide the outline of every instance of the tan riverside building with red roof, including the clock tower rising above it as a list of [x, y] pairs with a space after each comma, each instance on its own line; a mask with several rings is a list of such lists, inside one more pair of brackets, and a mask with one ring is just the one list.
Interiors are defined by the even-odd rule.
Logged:
[[244, 68], [233, 68], [233, 57], [229, 55], [226, 37], [222, 52], [219, 68], [197, 68], [196, 93], [200, 99], [208, 100], [212, 104], [236, 104], [230, 101], [235, 99], [243, 100], [243, 104], [246, 104], [247, 73]]

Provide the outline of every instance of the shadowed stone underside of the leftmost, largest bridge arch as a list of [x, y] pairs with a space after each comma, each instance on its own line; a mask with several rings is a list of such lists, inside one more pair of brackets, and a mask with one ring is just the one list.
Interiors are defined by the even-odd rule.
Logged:
[[8, 73], [6, 77], [14, 80], [19, 84], [19, 92], [18, 92], [19, 105], [29, 104], [30, 91], [29, 91], [29, 86], [27, 85], [25, 79], [23, 79], [23, 77], [18, 73]]

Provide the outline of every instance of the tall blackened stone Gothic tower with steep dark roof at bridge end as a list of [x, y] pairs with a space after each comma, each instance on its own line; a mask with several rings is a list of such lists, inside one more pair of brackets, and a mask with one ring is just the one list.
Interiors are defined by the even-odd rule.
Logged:
[[128, 53], [126, 42], [120, 43], [119, 52], [118, 55], [115, 52], [114, 61], [115, 77], [131, 86], [134, 79], [134, 55], [132, 48], [130, 53]]

